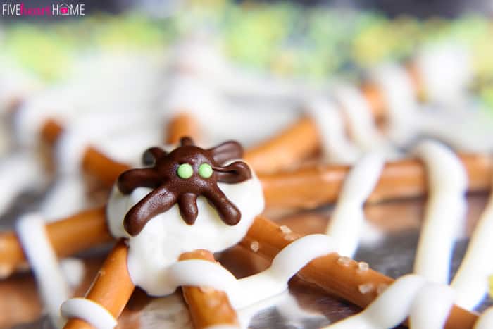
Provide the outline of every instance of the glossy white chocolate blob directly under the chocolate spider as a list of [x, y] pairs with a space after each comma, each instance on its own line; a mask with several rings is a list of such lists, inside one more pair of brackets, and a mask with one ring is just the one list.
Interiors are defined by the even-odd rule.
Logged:
[[[220, 252], [242, 240], [254, 218], [263, 211], [260, 181], [254, 175], [244, 182], [218, 183], [218, 186], [242, 213], [241, 221], [237, 225], [226, 225], [204, 197], [197, 199], [199, 216], [194, 225], [183, 221], [177, 205], [154, 216], [139, 235], [128, 241], [128, 269], [135, 285], [151, 295], [170, 294], [177, 286], [166, 280], [167, 273], [180, 254], [195, 249]], [[151, 189], [139, 187], [131, 194], [123, 195], [118, 188], [113, 188], [107, 214], [114, 237], [128, 237], [123, 228], [125, 213], [149, 192]]]

